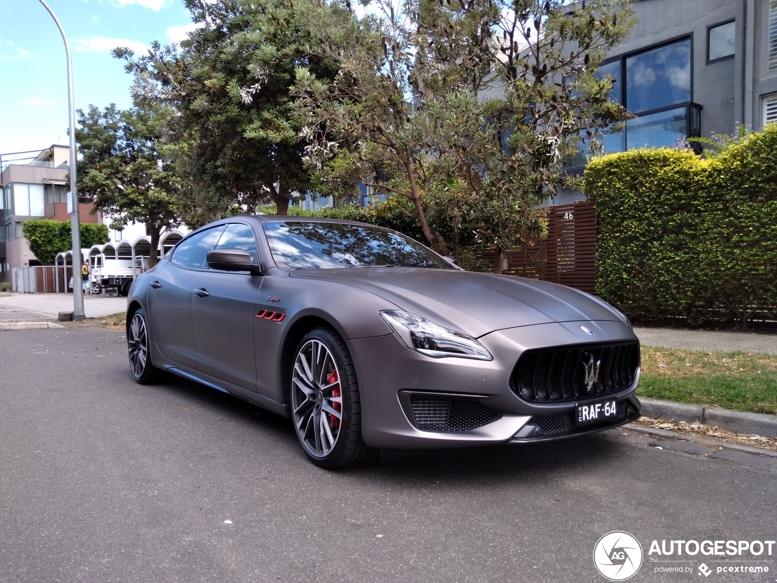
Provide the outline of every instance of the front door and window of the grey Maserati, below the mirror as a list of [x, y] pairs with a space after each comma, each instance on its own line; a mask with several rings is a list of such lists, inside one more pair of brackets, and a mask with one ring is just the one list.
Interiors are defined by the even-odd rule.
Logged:
[[[253, 229], [231, 223], [214, 249], [242, 249], [256, 257]], [[256, 390], [253, 321], [263, 276], [246, 271], [205, 269], [197, 278], [192, 324], [197, 344], [197, 368], [207, 375]]]

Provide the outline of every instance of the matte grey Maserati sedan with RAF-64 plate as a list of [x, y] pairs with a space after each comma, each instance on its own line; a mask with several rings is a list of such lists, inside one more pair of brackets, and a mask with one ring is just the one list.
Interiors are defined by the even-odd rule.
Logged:
[[462, 271], [374, 225], [225, 218], [135, 279], [127, 305], [138, 382], [168, 371], [291, 417], [319, 466], [639, 417], [639, 341], [617, 309]]

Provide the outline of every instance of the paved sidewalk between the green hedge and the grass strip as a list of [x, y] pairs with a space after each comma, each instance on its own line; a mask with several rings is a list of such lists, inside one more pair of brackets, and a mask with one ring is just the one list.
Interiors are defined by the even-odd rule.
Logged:
[[691, 351], [777, 354], [777, 334], [755, 334], [720, 330], [678, 330], [677, 328], [634, 327], [645, 346]]

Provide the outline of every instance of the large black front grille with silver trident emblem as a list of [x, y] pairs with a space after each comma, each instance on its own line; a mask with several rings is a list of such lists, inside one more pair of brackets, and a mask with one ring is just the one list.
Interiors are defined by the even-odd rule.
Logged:
[[639, 368], [639, 344], [584, 344], [521, 354], [510, 385], [531, 403], [563, 403], [628, 389]]

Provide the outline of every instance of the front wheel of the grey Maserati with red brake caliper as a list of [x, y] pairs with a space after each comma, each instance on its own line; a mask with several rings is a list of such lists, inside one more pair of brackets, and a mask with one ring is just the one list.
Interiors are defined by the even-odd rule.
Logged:
[[[326, 347], [328, 355], [320, 356], [320, 346]], [[315, 360], [314, 350], [319, 354]], [[340, 410], [336, 411], [338, 404]], [[373, 453], [361, 438], [361, 400], [354, 363], [343, 339], [330, 328], [311, 330], [294, 352], [291, 411], [297, 438], [316, 466], [343, 468]]]

